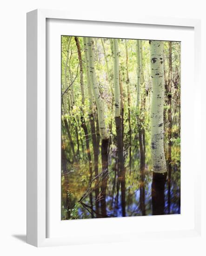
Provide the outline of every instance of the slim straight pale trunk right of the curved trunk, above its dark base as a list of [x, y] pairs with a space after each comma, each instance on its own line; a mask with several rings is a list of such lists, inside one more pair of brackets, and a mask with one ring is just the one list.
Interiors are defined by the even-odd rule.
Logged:
[[120, 76], [119, 76], [119, 49], [118, 39], [113, 39], [114, 58], [114, 117], [120, 116]]

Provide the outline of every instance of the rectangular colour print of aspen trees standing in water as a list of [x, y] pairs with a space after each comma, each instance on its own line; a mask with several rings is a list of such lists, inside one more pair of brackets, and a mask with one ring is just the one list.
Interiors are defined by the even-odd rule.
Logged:
[[61, 36], [61, 219], [180, 214], [177, 41]]

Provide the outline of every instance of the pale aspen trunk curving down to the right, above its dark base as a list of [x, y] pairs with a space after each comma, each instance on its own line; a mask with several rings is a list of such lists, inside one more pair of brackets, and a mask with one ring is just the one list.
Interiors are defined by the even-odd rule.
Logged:
[[100, 90], [97, 83], [96, 72], [94, 67], [94, 43], [91, 37], [87, 38], [87, 45], [88, 45], [90, 83], [93, 91], [93, 96], [97, 104], [100, 136], [102, 139], [108, 139], [109, 135], [105, 125], [105, 107], [104, 107], [104, 101], [101, 97]]

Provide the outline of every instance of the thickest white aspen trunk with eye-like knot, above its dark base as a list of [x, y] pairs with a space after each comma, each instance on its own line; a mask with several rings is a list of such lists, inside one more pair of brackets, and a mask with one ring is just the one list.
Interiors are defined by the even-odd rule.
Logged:
[[153, 85], [151, 106], [151, 150], [153, 171], [166, 172], [166, 160], [164, 153], [164, 64], [163, 41], [150, 41], [151, 77]]

